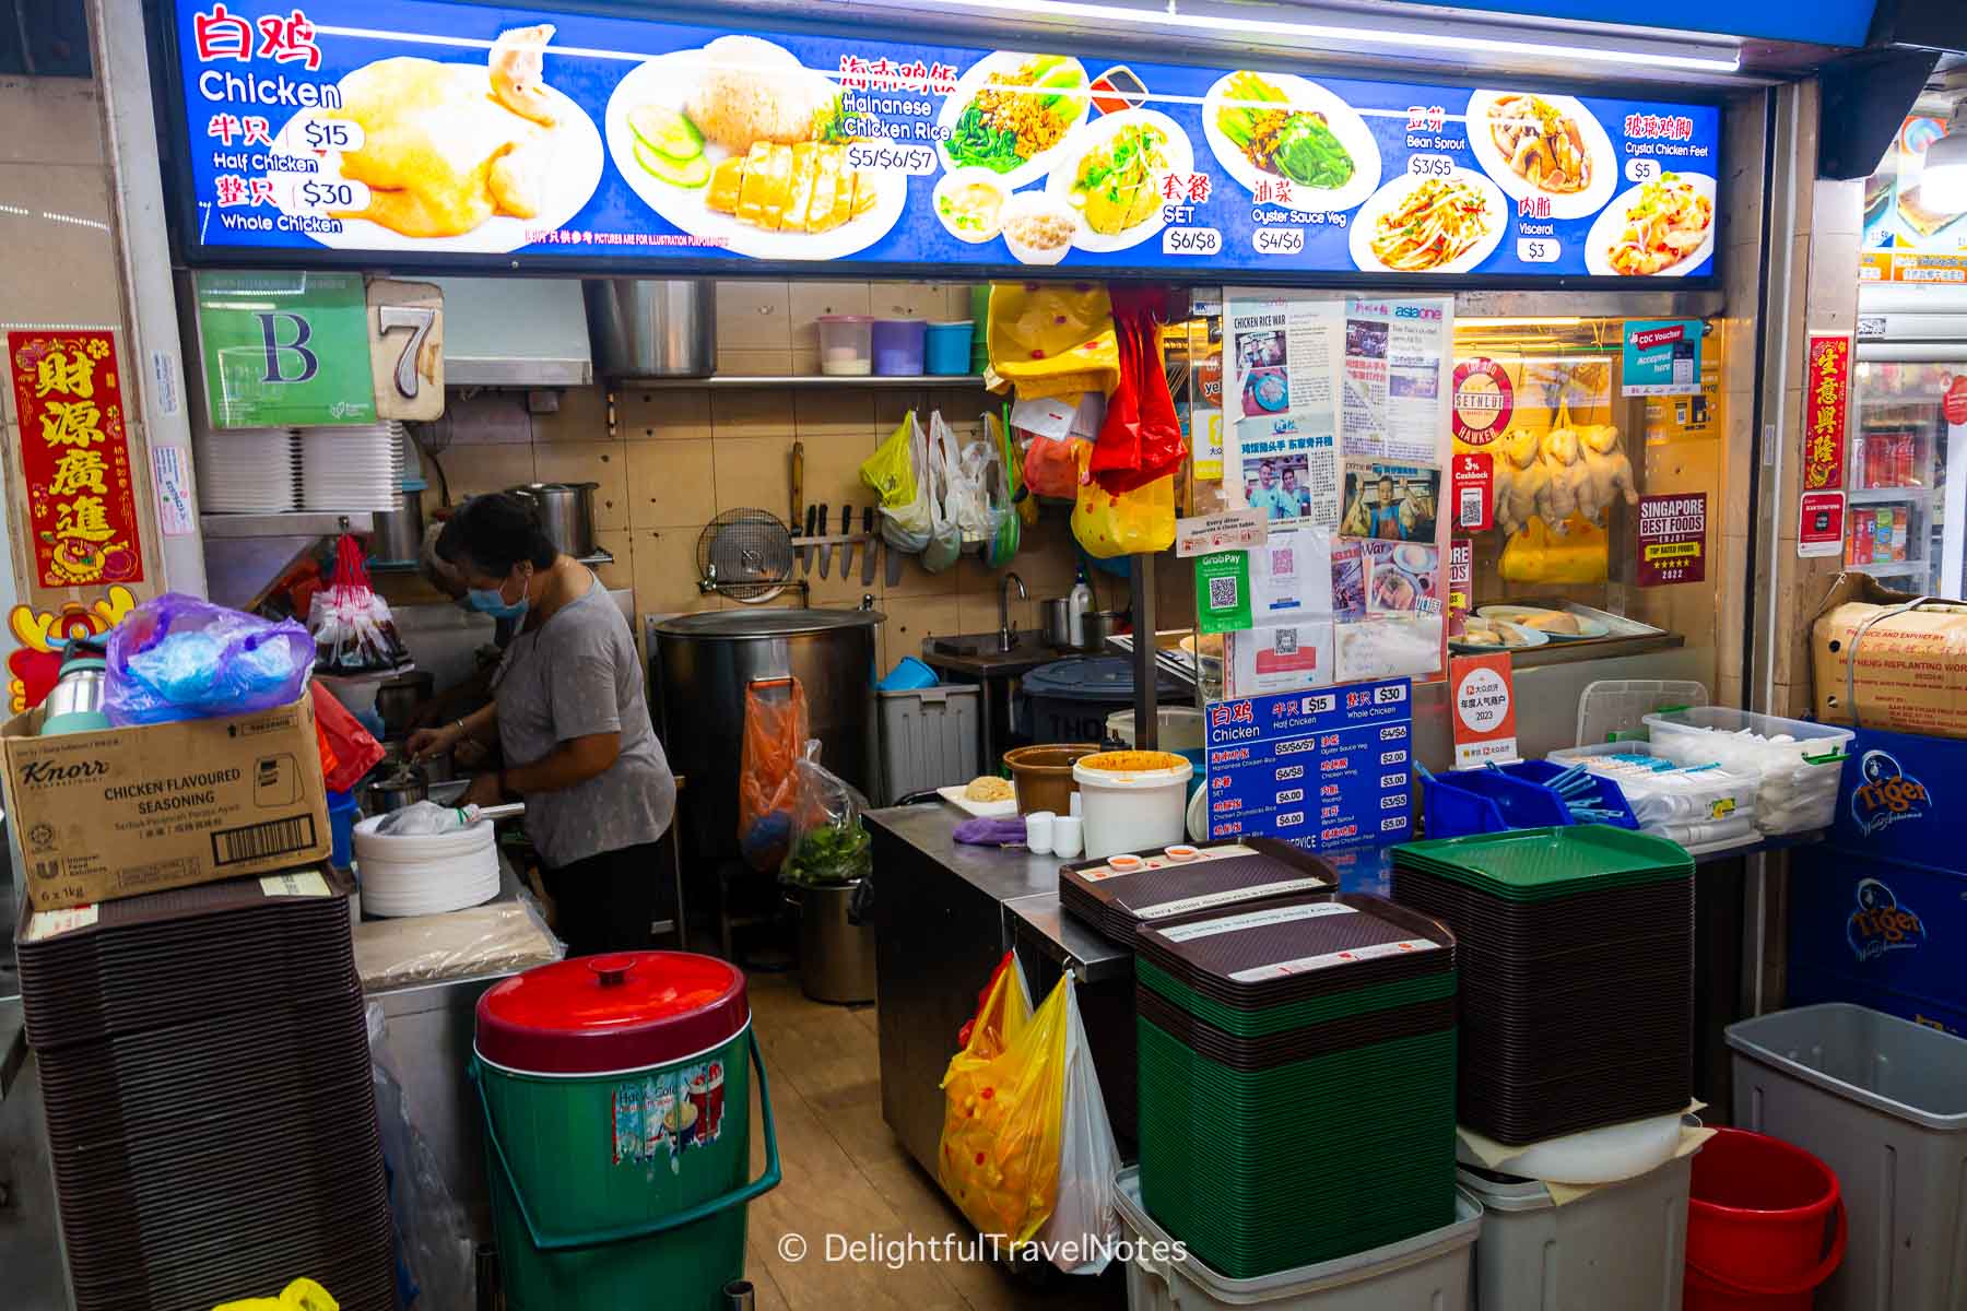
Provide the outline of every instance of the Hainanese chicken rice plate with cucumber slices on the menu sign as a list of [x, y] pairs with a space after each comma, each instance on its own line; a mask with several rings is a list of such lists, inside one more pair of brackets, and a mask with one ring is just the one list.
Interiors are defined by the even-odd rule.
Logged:
[[738, 254], [838, 259], [885, 236], [907, 199], [905, 173], [850, 163], [840, 90], [763, 37], [641, 63], [606, 120], [629, 189], [681, 232]]

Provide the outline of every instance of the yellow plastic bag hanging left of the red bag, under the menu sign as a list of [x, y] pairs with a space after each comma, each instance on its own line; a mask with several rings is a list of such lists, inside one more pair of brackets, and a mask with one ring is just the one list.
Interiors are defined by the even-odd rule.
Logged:
[[1105, 285], [991, 283], [985, 383], [1015, 383], [1021, 401], [1113, 391], [1119, 342]]

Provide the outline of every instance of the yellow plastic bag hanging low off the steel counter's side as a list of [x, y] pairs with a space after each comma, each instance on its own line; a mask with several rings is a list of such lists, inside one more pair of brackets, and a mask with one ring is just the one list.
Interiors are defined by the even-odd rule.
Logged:
[[1066, 1109], [1070, 993], [1060, 979], [1031, 1020], [1019, 1024], [1013, 1016], [1023, 997], [1013, 961], [985, 1000], [970, 1044], [942, 1075], [936, 1158], [942, 1191], [978, 1232], [1011, 1242], [1037, 1234], [1058, 1205]]

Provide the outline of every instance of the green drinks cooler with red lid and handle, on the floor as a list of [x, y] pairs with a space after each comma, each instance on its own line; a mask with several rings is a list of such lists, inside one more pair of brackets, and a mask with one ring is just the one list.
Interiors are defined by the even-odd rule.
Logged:
[[506, 1305], [720, 1307], [745, 1205], [779, 1183], [744, 973], [686, 951], [541, 965], [478, 998], [474, 1052]]

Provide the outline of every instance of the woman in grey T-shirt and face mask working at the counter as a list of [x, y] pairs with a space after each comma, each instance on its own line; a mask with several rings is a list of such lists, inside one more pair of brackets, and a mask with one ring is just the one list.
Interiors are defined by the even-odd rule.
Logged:
[[472, 778], [464, 802], [525, 800], [568, 955], [643, 947], [655, 841], [675, 816], [677, 780], [649, 723], [627, 621], [519, 497], [472, 497], [454, 525], [448, 560], [472, 609], [511, 619], [517, 633], [492, 676], [492, 704], [417, 731], [411, 755], [498, 741], [506, 769]]

